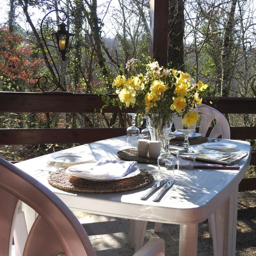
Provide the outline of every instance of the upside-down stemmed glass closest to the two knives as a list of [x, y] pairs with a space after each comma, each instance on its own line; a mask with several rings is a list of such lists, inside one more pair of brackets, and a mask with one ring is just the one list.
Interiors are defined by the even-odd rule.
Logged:
[[166, 175], [174, 175], [174, 169], [176, 164], [176, 157], [173, 156], [169, 151], [169, 143], [170, 139], [174, 136], [172, 135], [161, 135], [160, 138], [163, 143], [163, 148], [161, 150], [160, 155], [157, 158], [157, 166], [158, 166], [158, 179], [160, 178], [161, 174]]

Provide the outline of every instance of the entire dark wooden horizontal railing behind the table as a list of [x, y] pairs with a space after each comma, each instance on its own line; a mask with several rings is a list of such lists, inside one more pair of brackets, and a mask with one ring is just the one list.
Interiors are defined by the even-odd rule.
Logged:
[[[111, 95], [111, 97], [115, 97]], [[224, 114], [256, 114], [256, 98], [207, 99]], [[2, 113], [99, 113], [102, 99], [95, 94], [0, 92]], [[105, 113], [130, 113], [134, 109], [110, 107]], [[256, 127], [230, 127], [231, 139], [256, 139]], [[1, 145], [27, 145], [44, 143], [89, 143], [126, 134], [123, 128], [80, 129], [0, 129]], [[251, 164], [256, 165], [256, 153]], [[245, 186], [256, 189], [256, 180], [246, 179]], [[249, 181], [251, 180], [251, 181]], [[243, 181], [244, 182], [244, 181]], [[241, 188], [244, 183], [241, 182]], [[252, 187], [251, 187], [252, 185]]]

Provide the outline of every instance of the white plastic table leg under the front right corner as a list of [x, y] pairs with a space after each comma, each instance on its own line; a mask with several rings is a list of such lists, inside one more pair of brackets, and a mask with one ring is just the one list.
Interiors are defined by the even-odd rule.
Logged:
[[180, 225], [179, 256], [197, 255], [198, 223]]

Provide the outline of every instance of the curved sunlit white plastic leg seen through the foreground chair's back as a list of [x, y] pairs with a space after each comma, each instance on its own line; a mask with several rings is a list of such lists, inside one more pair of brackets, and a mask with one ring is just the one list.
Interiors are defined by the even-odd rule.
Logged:
[[22, 211], [18, 210], [13, 232], [15, 256], [22, 256], [27, 237], [28, 230], [25, 215]]

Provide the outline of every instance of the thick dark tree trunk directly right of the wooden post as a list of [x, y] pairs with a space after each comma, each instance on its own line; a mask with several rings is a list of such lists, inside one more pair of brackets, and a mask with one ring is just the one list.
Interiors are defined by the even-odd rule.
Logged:
[[185, 70], [184, 67], [184, 1], [169, 0], [169, 35], [167, 62], [170, 67]]

